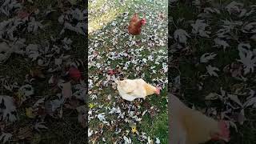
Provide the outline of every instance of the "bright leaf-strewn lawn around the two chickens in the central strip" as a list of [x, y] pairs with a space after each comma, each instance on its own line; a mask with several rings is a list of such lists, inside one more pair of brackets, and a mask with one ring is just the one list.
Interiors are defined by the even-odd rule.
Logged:
[[[167, 143], [167, 6], [162, 1], [89, 1], [90, 142]], [[146, 15], [142, 34], [128, 34], [130, 18]], [[161, 96], [128, 102], [116, 79], [142, 78]]]

